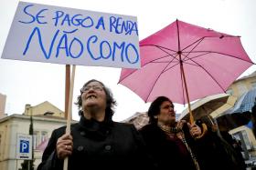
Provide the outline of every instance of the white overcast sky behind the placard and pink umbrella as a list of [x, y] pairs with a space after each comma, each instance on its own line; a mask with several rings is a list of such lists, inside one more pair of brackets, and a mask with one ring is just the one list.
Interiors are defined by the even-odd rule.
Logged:
[[[255, 0], [30, 0], [27, 2], [59, 5], [96, 12], [137, 16], [139, 39], [154, 34], [176, 19], [214, 29], [229, 35], [240, 35], [241, 43], [256, 62], [256, 1]], [[0, 1], [0, 55], [16, 12], [17, 0]], [[14, 48], [15, 50], [15, 48]], [[244, 74], [256, 70], [251, 66]], [[112, 89], [117, 100], [114, 120], [121, 121], [135, 112], [144, 112], [149, 104], [123, 85], [117, 85], [121, 68], [77, 66], [73, 102], [80, 87], [91, 78]], [[0, 58], [0, 93], [7, 96], [5, 112], [22, 114], [26, 104], [48, 101], [64, 111], [65, 65], [15, 61]], [[181, 113], [183, 105], [176, 104]], [[73, 119], [79, 120], [73, 105]]]

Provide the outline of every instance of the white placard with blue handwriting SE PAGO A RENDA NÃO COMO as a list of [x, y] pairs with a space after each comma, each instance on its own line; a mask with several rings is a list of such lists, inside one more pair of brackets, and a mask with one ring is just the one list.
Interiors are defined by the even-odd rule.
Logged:
[[2, 58], [139, 68], [137, 18], [19, 2]]

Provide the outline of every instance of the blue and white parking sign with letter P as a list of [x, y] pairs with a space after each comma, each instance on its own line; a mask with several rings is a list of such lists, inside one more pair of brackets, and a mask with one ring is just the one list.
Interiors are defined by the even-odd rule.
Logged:
[[32, 159], [32, 135], [17, 134], [16, 159]]

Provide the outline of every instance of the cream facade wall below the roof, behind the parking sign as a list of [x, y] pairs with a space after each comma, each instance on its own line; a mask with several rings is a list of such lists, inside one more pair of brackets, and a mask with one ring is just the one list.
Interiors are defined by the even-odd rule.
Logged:
[[[21, 168], [21, 163], [24, 160], [16, 160], [16, 135], [29, 134], [30, 117], [27, 115], [11, 115], [5, 117], [5, 121], [1, 122], [0, 119], [0, 170], [18, 170]], [[3, 120], [3, 119], [2, 119]], [[34, 132], [47, 132], [48, 138], [52, 131], [60, 126], [66, 125], [66, 120], [54, 117], [34, 117], [33, 127]], [[34, 150], [34, 167], [41, 162], [43, 151]]]

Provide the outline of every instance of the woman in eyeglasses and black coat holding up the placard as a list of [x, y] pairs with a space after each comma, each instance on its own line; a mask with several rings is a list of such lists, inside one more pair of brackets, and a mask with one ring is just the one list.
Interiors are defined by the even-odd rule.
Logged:
[[110, 89], [90, 80], [80, 90], [76, 105], [80, 122], [53, 131], [37, 170], [62, 170], [69, 156], [69, 170], [153, 168], [144, 141], [133, 125], [112, 121], [116, 105]]

